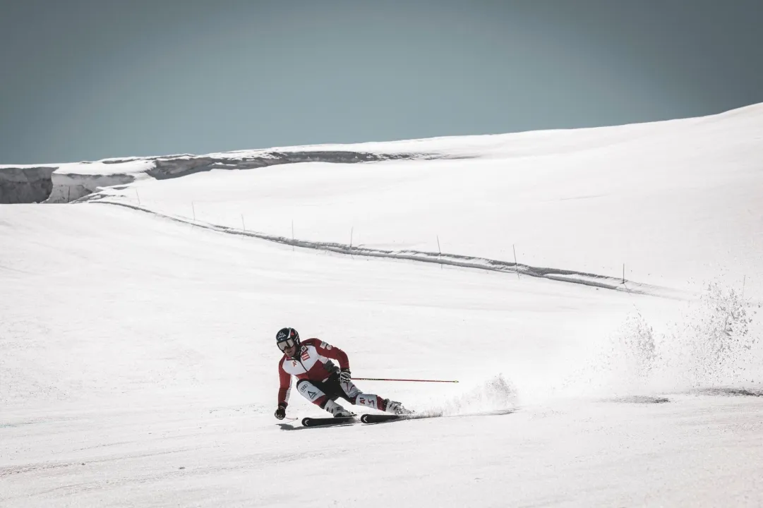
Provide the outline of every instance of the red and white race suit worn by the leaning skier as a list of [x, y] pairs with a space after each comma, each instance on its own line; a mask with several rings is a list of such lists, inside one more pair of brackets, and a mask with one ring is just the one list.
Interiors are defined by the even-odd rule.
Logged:
[[278, 361], [278, 405], [286, 407], [288, 404], [291, 376], [296, 376], [300, 394], [319, 407], [327, 407], [327, 402], [338, 395], [351, 404], [385, 410], [384, 399], [375, 394], [362, 393], [353, 381], [334, 379], [327, 383], [330, 376], [339, 370], [331, 360], [339, 362], [339, 368], [349, 368], [346, 353], [320, 339], [304, 340], [295, 358], [283, 355]]

